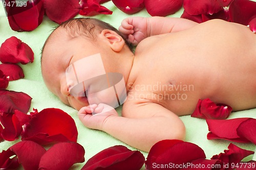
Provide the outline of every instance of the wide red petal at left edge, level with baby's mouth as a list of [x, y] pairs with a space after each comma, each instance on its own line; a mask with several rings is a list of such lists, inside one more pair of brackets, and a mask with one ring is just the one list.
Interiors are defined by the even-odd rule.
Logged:
[[27, 113], [31, 100], [32, 98], [24, 92], [0, 89], [0, 112], [14, 113], [14, 110], [19, 110]]

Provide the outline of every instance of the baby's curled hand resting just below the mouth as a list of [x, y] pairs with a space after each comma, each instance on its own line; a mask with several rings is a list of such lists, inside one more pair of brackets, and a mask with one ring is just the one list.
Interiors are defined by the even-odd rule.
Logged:
[[118, 113], [113, 107], [103, 103], [85, 106], [78, 111], [79, 119], [90, 129], [102, 130], [105, 120], [110, 116], [118, 116]]

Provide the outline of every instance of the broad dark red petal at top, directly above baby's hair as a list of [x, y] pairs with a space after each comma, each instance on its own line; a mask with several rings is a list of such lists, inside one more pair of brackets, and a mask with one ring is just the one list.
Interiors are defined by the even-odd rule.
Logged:
[[79, 10], [79, 0], [45, 0], [46, 15], [56, 23], [74, 18]]

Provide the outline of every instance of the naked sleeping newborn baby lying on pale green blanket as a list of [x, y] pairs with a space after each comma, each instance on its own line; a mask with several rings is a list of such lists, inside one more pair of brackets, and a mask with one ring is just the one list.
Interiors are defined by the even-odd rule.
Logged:
[[[46, 86], [79, 110], [84, 126], [149, 151], [163, 139], [184, 140], [178, 116], [191, 114], [199, 99], [227, 104], [233, 111], [256, 107], [256, 35], [249, 28], [223, 20], [198, 24], [182, 18], [130, 17], [119, 31], [100, 20], [77, 18], [62, 23], [44, 45]], [[137, 45], [135, 53], [126, 40]], [[114, 99], [108, 92], [89, 102], [93, 92], [88, 91], [93, 84], [98, 88], [99, 79], [83, 85], [81, 96], [71, 92], [67, 70], [80, 62], [86, 66], [75, 72], [84, 77], [100, 69], [105, 77], [109, 72], [122, 75], [127, 92], [122, 116], [108, 104]]]

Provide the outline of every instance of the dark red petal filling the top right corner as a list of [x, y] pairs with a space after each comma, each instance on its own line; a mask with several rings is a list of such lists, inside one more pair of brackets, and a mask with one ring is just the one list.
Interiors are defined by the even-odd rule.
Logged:
[[249, 22], [256, 17], [256, 2], [249, 0], [233, 0], [229, 6], [231, 22], [248, 26]]

